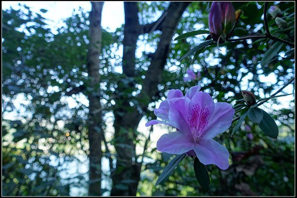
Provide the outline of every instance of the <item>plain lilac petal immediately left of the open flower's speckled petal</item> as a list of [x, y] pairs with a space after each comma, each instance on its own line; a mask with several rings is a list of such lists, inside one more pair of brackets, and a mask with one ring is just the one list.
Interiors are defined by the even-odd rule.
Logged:
[[[188, 106], [190, 99], [187, 97], [169, 100], [169, 122], [180, 131], [189, 132]], [[191, 134], [191, 133], [190, 133]]]

